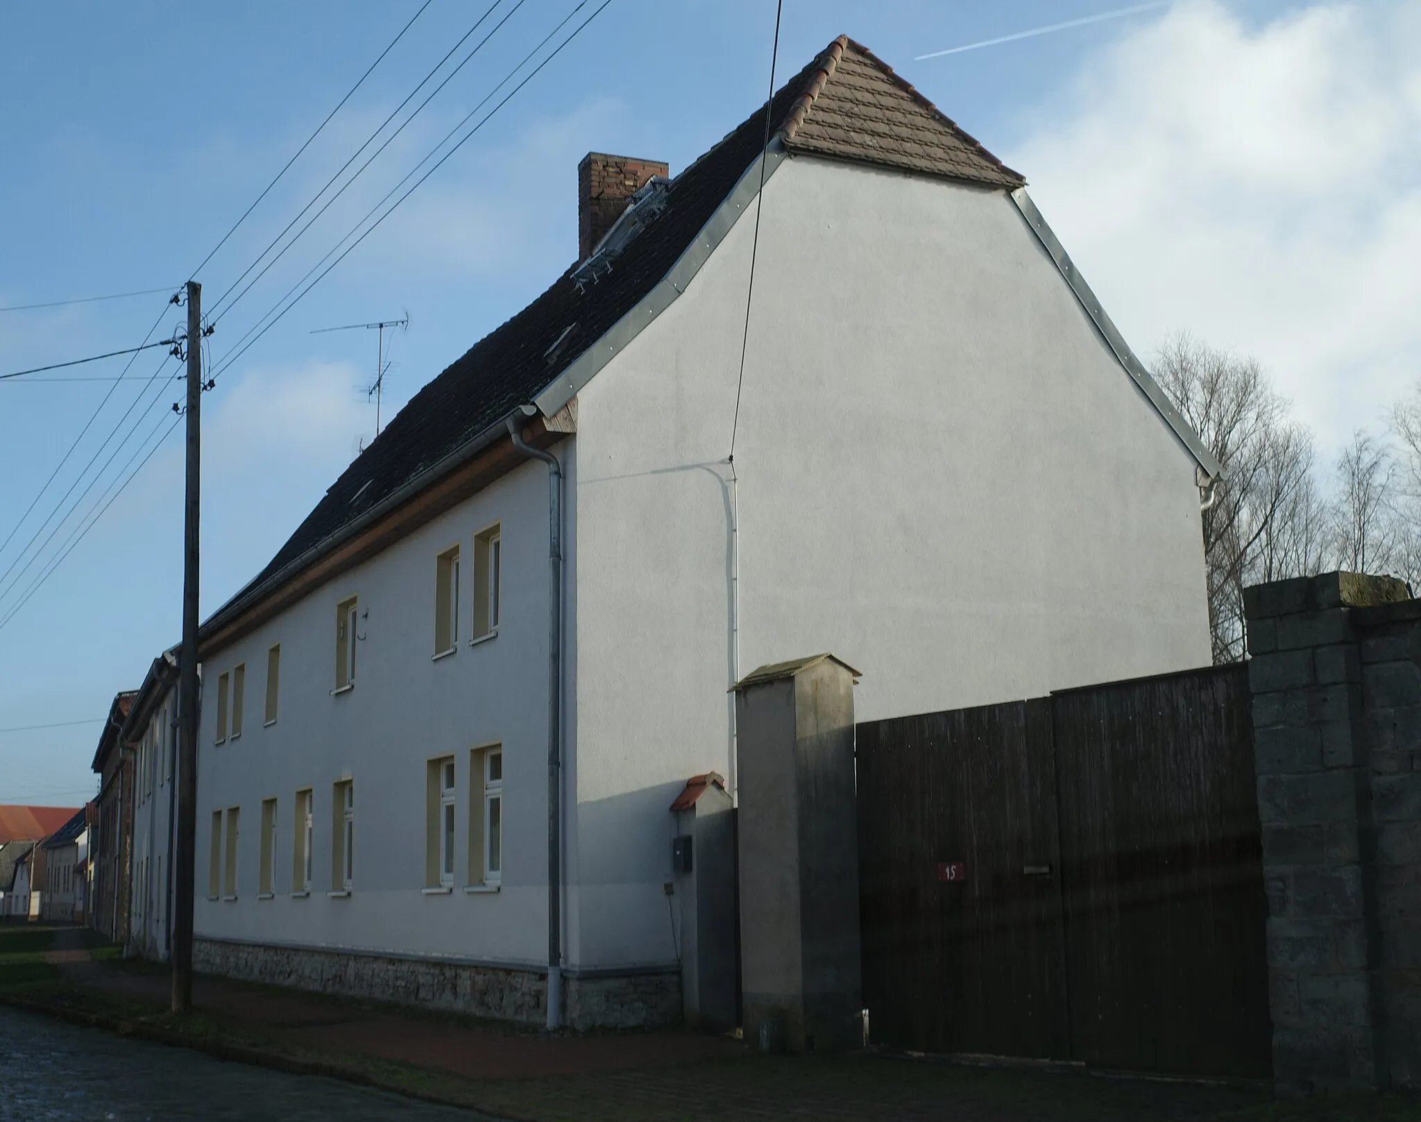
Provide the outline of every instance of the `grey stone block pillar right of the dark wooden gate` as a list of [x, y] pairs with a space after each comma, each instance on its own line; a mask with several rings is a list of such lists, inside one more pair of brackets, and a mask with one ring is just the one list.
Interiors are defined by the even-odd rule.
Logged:
[[1280, 1094], [1388, 1082], [1354, 609], [1407, 598], [1401, 581], [1347, 572], [1245, 592]]

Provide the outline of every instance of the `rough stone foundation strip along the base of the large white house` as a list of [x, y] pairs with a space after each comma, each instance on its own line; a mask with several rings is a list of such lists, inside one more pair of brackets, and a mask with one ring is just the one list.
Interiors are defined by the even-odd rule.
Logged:
[[[523, 1024], [544, 1024], [547, 1018], [547, 976], [540, 970], [215, 939], [193, 940], [193, 969], [269, 986]], [[681, 1018], [681, 976], [564, 976], [563, 1003], [564, 1023], [573, 1028], [675, 1024]]]

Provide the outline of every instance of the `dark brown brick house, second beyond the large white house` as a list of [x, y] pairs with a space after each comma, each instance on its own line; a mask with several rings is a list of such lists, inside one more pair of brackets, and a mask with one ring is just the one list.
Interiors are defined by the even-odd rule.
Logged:
[[94, 908], [90, 926], [115, 943], [128, 940], [129, 864], [134, 851], [134, 753], [119, 733], [134, 706], [135, 690], [119, 693], [94, 753], [99, 777], [90, 861], [94, 869]]

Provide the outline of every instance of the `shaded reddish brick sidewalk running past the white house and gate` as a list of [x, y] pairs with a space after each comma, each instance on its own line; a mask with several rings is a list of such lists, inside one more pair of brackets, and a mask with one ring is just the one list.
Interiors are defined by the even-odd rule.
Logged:
[[[87, 990], [166, 1007], [166, 973], [90, 962], [60, 933], [54, 959]], [[1266, 1088], [973, 1068], [881, 1055], [763, 1057], [693, 1033], [557, 1034], [200, 976], [203, 1017], [273, 1050], [328, 1057], [387, 1086], [534, 1122], [820, 1118], [834, 1122], [1400, 1119], [1378, 1101], [1326, 1113]], [[1341, 1104], [1337, 1104], [1341, 1106]]]

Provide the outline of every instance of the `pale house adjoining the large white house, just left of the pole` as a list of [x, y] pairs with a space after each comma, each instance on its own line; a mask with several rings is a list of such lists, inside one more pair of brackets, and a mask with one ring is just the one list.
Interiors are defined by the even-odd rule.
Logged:
[[178, 810], [178, 658], [153, 659], [119, 743], [132, 760], [126, 953], [165, 960], [172, 943], [172, 852]]

